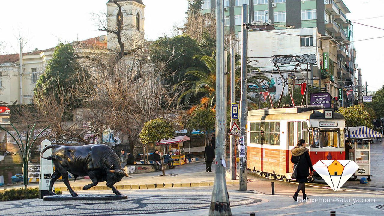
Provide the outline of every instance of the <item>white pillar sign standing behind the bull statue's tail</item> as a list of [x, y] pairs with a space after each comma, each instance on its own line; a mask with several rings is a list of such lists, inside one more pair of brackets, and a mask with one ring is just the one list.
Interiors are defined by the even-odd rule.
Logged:
[[[51, 145], [51, 141], [45, 139], [41, 142], [41, 151], [47, 146]], [[51, 155], [52, 150], [48, 149], [44, 152], [43, 156], [48, 157]], [[48, 188], [51, 181], [51, 174], [53, 173], [52, 160], [46, 160], [41, 158], [40, 160], [40, 180], [39, 180], [39, 198], [43, 199], [43, 196], [47, 196]]]

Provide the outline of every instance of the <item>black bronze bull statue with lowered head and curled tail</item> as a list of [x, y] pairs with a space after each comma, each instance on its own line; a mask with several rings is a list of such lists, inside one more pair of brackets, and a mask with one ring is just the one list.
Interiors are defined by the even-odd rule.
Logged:
[[[52, 148], [51, 156], [44, 157], [43, 153]], [[51, 175], [48, 189], [50, 195], [56, 195], [52, 191], [55, 181], [63, 176], [63, 182], [72, 196], [78, 196], [73, 191], [68, 181], [68, 172], [73, 174], [74, 180], [79, 176], [89, 176], [91, 184], [85, 185], [83, 190], [96, 186], [99, 182], [106, 181], [116, 195], [122, 195], [113, 185], [126, 176], [127, 173], [121, 168], [119, 156], [111, 147], [103, 144], [83, 146], [50, 145], [41, 151], [41, 158], [52, 160], [55, 164], [55, 172]]]

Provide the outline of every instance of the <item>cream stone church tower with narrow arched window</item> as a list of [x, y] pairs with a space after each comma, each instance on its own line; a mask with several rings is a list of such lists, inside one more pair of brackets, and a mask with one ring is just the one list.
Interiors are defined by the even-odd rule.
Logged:
[[[117, 0], [121, 5], [123, 14], [123, 30], [121, 31], [122, 42], [126, 49], [134, 48], [134, 45], [144, 37], [144, 8], [142, 0]], [[119, 11], [118, 6], [113, 0], [107, 2], [107, 28], [117, 30], [116, 15]], [[118, 49], [118, 40], [114, 33], [107, 33], [108, 49]]]

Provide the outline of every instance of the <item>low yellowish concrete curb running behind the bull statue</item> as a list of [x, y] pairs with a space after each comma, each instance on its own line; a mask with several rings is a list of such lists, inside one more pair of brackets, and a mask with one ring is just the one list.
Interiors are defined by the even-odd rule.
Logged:
[[[238, 180], [229, 180], [227, 181], [227, 185], [230, 184], [238, 184]], [[126, 185], [115, 185], [115, 188], [118, 190], [137, 190], [137, 189], [155, 189], [155, 188], [188, 188], [188, 187], [206, 187], [213, 186], [213, 181], [206, 182], [190, 182], [190, 183], [156, 183], [156, 184], [126, 184]], [[68, 191], [66, 187], [56, 187], [56, 189], [60, 189], [61, 191]], [[74, 186], [72, 187], [74, 191], [83, 190], [82, 186]], [[94, 186], [89, 190], [111, 190], [107, 186]]]

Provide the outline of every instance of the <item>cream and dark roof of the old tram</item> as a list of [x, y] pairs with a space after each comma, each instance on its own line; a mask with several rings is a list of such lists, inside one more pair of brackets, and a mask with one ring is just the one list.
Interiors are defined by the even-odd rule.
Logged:
[[282, 119], [325, 119], [324, 110], [333, 111], [333, 118], [327, 120], [344, 120], [344, 116], [336, 113], [334, 108], [292, 107], [252, 110], [248, 112], [248, 120], [282, 120]]

